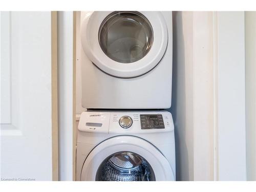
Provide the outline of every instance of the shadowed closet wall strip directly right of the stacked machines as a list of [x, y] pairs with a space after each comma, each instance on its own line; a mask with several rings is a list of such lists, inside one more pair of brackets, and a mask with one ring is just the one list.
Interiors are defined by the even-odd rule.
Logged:
[[176, 179], [194, 180], [193, 12], [173, 12], [173, 91]]

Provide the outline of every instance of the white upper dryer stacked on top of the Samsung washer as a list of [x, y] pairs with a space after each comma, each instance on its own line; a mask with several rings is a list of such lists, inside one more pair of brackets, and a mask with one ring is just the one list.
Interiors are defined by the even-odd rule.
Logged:
[[170, 108], [172, 12], [81, 12], [80, 24], [84, 108]]

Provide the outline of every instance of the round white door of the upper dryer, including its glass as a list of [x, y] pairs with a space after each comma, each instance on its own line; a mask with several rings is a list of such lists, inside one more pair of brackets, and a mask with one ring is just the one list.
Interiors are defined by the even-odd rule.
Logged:
[[81, 22], [84, 52], [116, 77], [137, 77], [152, 70], [163, 57], [167, 40], [160, 12], [95, 11]]

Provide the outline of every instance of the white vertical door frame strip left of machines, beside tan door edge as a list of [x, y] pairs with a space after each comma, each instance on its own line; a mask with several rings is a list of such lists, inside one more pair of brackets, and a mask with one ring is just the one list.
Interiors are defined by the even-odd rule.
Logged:
[[[73, 12], [58, 11], [58, 121], [59, 180], [72, 181], [74, 174], [74, 63]], [[73, 100], [74, 99], [74, 100]]]

